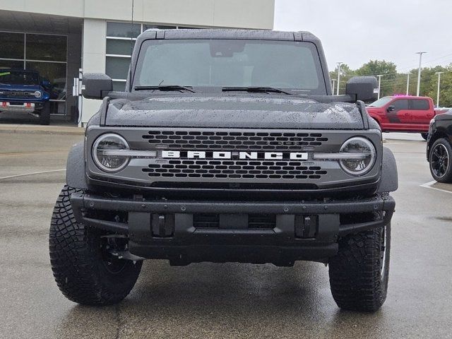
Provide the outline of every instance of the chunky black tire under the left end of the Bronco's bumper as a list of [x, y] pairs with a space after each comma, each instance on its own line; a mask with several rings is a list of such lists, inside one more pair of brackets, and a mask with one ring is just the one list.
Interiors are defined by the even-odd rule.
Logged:
[[112, 258], [103, 242], [107, 232], [76, 222], [69, 197], [80, 190], [65, 186], [50, 225], [50, 262], [64, 296], [86, 305], [116, 304], [135, 285], [142, 261]]

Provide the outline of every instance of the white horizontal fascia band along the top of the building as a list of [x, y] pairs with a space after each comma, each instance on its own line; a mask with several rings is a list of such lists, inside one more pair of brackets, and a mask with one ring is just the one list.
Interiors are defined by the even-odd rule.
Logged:
[[[131, 20], [132, 0], [0, 0], [4, 11]], [[146, 23], [272, 29], [275, 0], [135, 0]]]

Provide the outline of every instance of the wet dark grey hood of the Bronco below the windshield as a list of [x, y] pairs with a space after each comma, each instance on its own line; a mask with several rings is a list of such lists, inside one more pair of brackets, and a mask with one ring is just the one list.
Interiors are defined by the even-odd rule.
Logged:
[[112, 100], [107, 126], [363, 129], [357, 105], [281, 95], [160, 95]]

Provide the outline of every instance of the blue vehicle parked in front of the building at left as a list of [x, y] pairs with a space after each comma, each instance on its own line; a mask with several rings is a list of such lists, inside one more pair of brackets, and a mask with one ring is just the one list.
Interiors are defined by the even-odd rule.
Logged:
[[0, 113], [28, 112], [48, 125], [49, 85], [35, 71], [0, 69]]

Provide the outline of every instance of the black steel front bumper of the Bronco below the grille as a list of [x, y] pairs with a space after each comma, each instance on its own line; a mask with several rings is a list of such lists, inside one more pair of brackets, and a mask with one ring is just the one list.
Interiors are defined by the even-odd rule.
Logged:
[[[129, 234], [131, 254], [165, 258], [178, 265], [199, 261], [279, 265], [296, 260], [327, 261], [338, 251], [338, 237], [388, 225], [395, 208], [391, 196], [380, 195], [347, 201], [269, 203], [148, 201], [72, 194], [71, 204], [78, 222]], [[123, 222], [105, 218], [118, 213], [122, 213]], [[206, 215], [216, 222], [199, 222]], [[271, 222], [264, 227], [253, 223], [251, 228], [251, 219], [260, 215]]]

